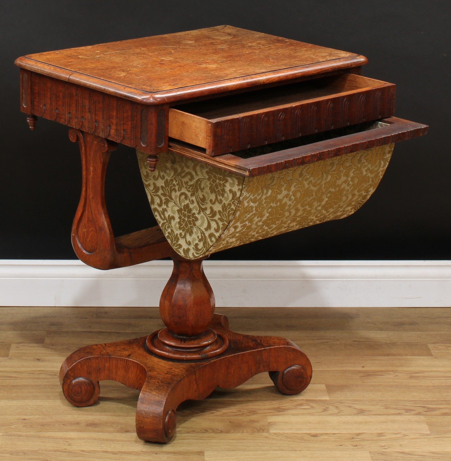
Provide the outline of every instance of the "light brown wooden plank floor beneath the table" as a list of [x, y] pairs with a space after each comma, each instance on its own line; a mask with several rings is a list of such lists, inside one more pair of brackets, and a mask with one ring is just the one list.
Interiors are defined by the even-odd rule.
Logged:
[[99, 402], [75, 408], [58, 382], [73, 350], [159, 328], [156, 308], [0, 307], [0, 459], [451, 460], [451, 308], [217, 312], [298, 343], [313, 380], [282, 396], [263, 373], [185, 402], [160, 445], [136, 437], [138, 391], [106, 381]]

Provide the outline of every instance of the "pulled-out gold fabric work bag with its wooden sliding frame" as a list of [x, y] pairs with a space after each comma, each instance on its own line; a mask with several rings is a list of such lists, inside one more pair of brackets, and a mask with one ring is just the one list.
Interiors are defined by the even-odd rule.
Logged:
[[338, 131], [288, 141], [293, 147], [284, 150], [273, 144], [218, 157], [173, 143], [153, 172], [138, 152], [164, 236], [177, 253], [196, 259], [344, 218], [377, 187], [394, 142], [421, 136], [426, 127], [390, 118]]

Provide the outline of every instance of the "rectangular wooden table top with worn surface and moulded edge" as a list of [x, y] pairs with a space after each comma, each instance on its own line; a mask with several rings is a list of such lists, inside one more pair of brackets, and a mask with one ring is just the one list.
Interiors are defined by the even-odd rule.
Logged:
[[16, 60], [30, 71], [145, 104], [291, 80], [366, 64], [355, 53], [224, 25]]

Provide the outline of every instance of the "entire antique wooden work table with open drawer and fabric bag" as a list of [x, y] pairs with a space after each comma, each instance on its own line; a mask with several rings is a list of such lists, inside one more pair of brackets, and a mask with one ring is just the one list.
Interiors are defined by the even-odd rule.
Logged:
[[[427, 126], [393, 117], [395, 86], [361, 76], [363, 56], [231, 26], [31, 54], [21, 110], [70, 127], [82, 155], [72, 244], [111, 269], [171, 257], [166, 328], [83, 347], [61, 366], [66, 399], [99, 381], [140, 389], [136, 431], [168, 442], [176, 408], [216, 386], [269, 372], [283, 394], [310, 383], [292, 342], [228, 329], [202, 260], [224, 248], [353, 213], [372, 194], [394, 142]], [[136, 148], [158, 226], [115, 237], [105, 206], [111, 151]]]

